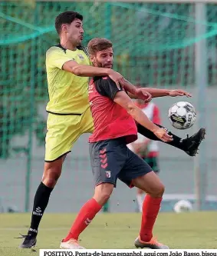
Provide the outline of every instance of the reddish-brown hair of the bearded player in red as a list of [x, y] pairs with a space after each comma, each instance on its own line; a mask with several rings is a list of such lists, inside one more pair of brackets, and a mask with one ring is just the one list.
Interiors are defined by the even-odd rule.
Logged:
[[87, 48], [90, 55], [95, 55], [99, 51], [112, 47], [112, 42], [106, 38], [93, 38], [88, 42]]

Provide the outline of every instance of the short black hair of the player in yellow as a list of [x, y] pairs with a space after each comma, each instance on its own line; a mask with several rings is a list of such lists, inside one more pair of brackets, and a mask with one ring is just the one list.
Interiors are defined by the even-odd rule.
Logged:
[[83, 21], [83, 16], [78, 12], [67, 11], [59, 14], [55, 19], [55, 28], [58, 34], [61, 34], [61, 25], [71, 24], [76, 18]]

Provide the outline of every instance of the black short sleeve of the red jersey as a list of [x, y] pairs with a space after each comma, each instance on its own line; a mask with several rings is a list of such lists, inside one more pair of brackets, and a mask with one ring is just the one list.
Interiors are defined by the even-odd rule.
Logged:
[[96, 89], [102, 96], [108, 97], [113, 100], [117, 91], [123, 91], [123, 88], [117, 88], [116, 83], [110, 77], [104, 77], [96, 81]]

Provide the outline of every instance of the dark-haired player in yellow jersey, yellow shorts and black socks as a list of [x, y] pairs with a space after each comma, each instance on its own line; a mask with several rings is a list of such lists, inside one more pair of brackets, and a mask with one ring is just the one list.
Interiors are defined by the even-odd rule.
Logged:
[[[88, 77], [109, 76], [117, 87], [123, 86], [136, 97], [150, 100], [150, 93], [143, 88], [136, 89], [113, 69], [90, 66], [89, 58], [81, 48], [82, 21], [83, 16], [77, 12], [63, 12], [55, 20], [60, 44], [49, 48], [46, 54], [49, 102], [44, 174], [35, 194], [31, 225], [28, 234], [21, 237], [25, 240], [20, 248], [35, 246], [38, 226], [61, 175], [65, 156], [80, 135], [94, 130], [87, 95]], [[182, 90], [175, 90], [174, 94], [188, 95]], [[180, 148], [179, 145], [178, 141], [174, 146]]]

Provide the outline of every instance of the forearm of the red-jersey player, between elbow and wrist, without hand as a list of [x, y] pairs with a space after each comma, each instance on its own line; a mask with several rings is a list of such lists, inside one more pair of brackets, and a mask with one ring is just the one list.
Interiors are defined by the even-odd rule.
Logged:
[[129, 105], [127, 111], [134, 118], [134, 120], [136, 120], [140, 125], [143, 125], [148, 130], [154, 132], [158, 128], [158, 126], [156, 126], [152, 121], [150, 121], [146, 114], [143, 113], [143, 111], [140, 108], [136, 107], [136, 105]]

